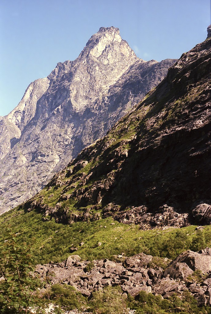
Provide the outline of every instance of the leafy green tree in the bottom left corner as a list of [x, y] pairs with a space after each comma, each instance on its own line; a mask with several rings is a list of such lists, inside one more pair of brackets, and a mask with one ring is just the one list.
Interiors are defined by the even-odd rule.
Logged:
[[0, 313], [42, 313], [36, 291], [40, 280], [33, 274], [32, 256], [26, 243], [18, 244], [10, 235], [0, 247]]

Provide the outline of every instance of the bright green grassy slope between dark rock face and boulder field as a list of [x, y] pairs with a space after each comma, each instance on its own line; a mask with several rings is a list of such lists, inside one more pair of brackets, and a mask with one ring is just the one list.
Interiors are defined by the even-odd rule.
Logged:
[[[113, 222], [115, 225], [112, 225]], [[113, 259], [114, 255], [122, 252], [125, 256], [144, 252], [172, 259], [186, 249], [211, 246], [211, 226], [205, 226], [198, 234], [196, 226], [144, 231], [138, 225], [121, 224], [112, 218], [62, 225], [54, 219], [43, 222], [41, 214], [34, 211], [24, 213], [23, 210], [3, 214], [0, 223], [0, 243], [7, 239], [8, 230], [17, 233], [20, 242], [31, 246], [35, 263], [61, 262], [71, 255], [72, 246], [78, 248], [73, 254], [89, 261]], [[83, 246], [79, 246], [81, 242], [84, 242]], [[98, 246], [98, 242], [102, 245]], [[161, 260], [157, 262], [162, 263]]]

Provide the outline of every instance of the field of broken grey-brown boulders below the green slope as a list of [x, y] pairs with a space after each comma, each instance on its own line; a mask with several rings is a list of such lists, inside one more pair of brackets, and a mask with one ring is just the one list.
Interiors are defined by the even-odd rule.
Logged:
[[188, 290], [199, 305], [211, 305], [211, 248], [183, 252], [173, 261], [140, 253], [90, 263], [71, 255], [63, 263], [37, 265], [35, 273], [50, 284], [69, 284], [88, 297], [105, 286], [119, 285], [132, 296], [145, 291], [169, 298]]

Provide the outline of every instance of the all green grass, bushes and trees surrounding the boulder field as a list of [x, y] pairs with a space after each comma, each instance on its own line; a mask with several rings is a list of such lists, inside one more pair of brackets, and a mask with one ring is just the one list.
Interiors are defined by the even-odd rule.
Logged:
[[[211, 246], [211, 226], [206, 226], [203, 230], [189, 226], [182, 229], [143, 231], [135, 225], [117, 222], [112, 225], [111, 218], [62, 225], [56, 224], [53, 219], [43, 222], [40, 214], [34, 211], [24, 213], [23, 210], [3, 214], [0, 223], [0, 277], [7, 279], [0, 281], [2, 314], [29, 314], [30, 307], [35, 313], [42, 313], [48, 302], [55, 305], [55, 314], [64, 310], [68, 313], [75, 308], [89, 308], [93, 313], [101, 314], [126, 314], [128, 307], [135, 309], [137, 314], [210, 313], [209, 308], [198, 308], [188, 292], [184, 292], [182, 300], [177, 295], [166, 300], [144, 291], [134, 299], [118, 287], [106, 287], [94, 292], [91, 299], [87, 300], [73, 287], [55, 284], [41, 296], [34, 293], [41, 287], [41, 283], [30, 272], [36, 263], [64, 260], [70, 255], [72, 246], [78, 248], [77, 254], [82, 259], [90, 261], [105, 257], [115, 259], [117, 257], [114, 255], [121, 252], [126, 256], [140, 252], [157, 255], [152, 259], [152, 266], [165, 268], [168, 260], [163, 257], [174, 258], [186, 249]], [[83, 246], [79, 246], [82, 241]], [[98, 246], [98, 242], [102, 242], [102, 245]], [[93, 263], [88, 263], [87, 271], [91, 271], [92, 267]], [[190, 279], [200, 283], [204, 278], [203, 274], [196, 271]]]

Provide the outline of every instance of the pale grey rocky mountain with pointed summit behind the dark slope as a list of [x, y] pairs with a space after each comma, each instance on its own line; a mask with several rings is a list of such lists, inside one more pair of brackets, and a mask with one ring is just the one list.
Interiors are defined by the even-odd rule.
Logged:
[[101, 27], [75, 61], [31, 83], [0, 121], [0, 213], [32, 197], [102, 138], [175, 61], [139, 59], [119, 29]]

